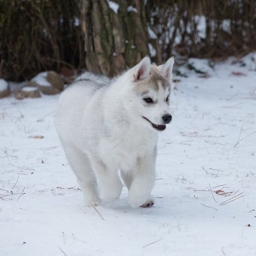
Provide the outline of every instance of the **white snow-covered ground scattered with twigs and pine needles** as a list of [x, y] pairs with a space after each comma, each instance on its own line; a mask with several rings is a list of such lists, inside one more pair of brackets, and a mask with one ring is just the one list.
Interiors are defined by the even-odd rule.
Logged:
[[0, 255], [256, 255], [255, 81], [226, 62], [177, 83], [148, 209], [131, 209], [125, 187], [82, 206], [53, 124], [58, 95], [0, 100]]

